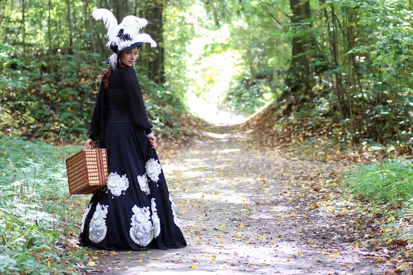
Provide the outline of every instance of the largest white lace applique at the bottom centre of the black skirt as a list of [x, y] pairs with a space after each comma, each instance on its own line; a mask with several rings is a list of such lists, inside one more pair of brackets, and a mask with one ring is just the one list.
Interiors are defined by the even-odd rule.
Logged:
[[147, 246], [153, 239], [153, 227], [151, 223], [151, 212], [149, 206], [132, 208], [134, 215], [131, 218], [131, 229], [129, 235], [132, 241], [141, 246]]

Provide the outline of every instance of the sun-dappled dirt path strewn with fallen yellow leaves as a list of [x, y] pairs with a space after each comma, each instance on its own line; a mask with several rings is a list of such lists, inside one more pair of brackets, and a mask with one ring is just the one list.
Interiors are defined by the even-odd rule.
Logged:
[[160, 151], [188, 247], [103, 252], [104, 274], [384, 273], [369, 256], [377, 252], [357, 248], [354, 213], [317, 185], [339, 168], [249, 146], [228, 130]]

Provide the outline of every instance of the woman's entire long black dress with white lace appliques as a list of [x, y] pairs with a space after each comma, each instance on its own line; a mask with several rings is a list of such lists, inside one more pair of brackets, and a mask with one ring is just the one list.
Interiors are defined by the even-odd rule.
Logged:
[[87, 132], [107, 149], [109, 176], [83, 215], [81, 245], [101, 250], [187, 245], [158, 156], [146, 136], [151, 127], [134, 69], [113, 70], [109, 89], [100, 85]]

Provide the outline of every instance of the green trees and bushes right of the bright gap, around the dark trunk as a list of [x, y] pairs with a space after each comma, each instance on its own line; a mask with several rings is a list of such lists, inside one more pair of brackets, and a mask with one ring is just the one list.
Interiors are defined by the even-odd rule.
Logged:
[[[240, 73], [235, 74], [226, 96], [228, 104], [252, 113], [262, 105], [264, 93], [246, 82], [270, 78], [272, 86], [282, 86], [277, 83], [292, 79], [280, 98], [297, 105], [288, 111], [306, 109], [304, 113], [313, 120], [310, 124], [332, 121], [334, 129], [328, 132], [336, 140], [352, 144], [398, 141], [412, 147], [411, 5], [406, 1], [311, 0], [308, 19], [293, 20], [290, 3], [215, 0], [205, 4], [211, 28], [228, 27], [230, 32], [229, 49], [211, 47], [205, 54], [215, 54], [216, 49], [242, 54]], [[293, 41], [303, 45], [295, 56]], [[305, 56], [308, 65], [289, 70], [299, 56]], [[308, 86], [297, 83], [304, 78], [310, 79]]]

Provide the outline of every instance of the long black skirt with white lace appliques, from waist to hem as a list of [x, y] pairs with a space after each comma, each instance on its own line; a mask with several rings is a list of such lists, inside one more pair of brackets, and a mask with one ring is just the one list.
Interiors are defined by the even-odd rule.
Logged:
[[82, 246], [100, 250], [183, 248], [162, 167], [145, 131], [132, 122], [109, 122], [107, 186], [94, 193], [83, 215]]

